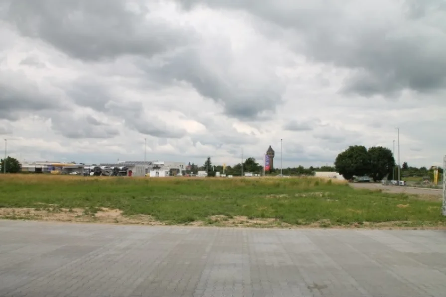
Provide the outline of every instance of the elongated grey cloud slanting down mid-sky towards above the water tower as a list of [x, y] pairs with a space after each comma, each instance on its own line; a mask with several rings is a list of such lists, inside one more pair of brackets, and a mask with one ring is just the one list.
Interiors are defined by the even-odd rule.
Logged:
[[[221, 51], [221, 55], [217, 56], [223, 61], [230, 61], [230, 57], [225, 56], [230, 50], [226, 53], [220, 47], [215, 50]], [[213, 71], [194, 49], [166, 57], [163, 63], [141, 67], [154, 80], [165, 84], [174, 81], [188, 82], [202, 96], [222, 103], [228, 116], [240, 120], [254, 120], [259, 116], [265, 117], [265, 113], [266, 116], [273, 114], [277, 104], [282, 101], [281, 93], [284, 88], [274, 74], [263, 74], [257, 81], [256, 78], [251, 78], [253, 83], [232, 78], [228, 73]]]

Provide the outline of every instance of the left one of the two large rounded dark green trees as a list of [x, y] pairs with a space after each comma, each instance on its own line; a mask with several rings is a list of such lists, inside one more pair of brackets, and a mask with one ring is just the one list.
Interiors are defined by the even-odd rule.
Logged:
[[361, 145], [350, 146], [337, 155], [334, 167], [347, 180], [352, 179], [354, 175], [364, 176], [369, 174], [370, 159], [367, 149]]

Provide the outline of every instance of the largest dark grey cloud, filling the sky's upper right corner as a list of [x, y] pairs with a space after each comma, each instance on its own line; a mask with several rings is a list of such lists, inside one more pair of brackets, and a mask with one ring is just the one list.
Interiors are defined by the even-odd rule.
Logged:
[[[307, 58], [353, 70], [341, 90], [345, 94], [392, 96], [405, 89], [429, 93], [446, 88], [443, 0], [406, 0], [397, 8], [396, 1], [373, 1], [380, 10], [358, 9], [352, 0], [264, 0], [261, 5], [256, 0], [179, 2], [188, 9], [205, 4], [244, 10], [283, 28], [290, 47]], [[264, 33], [273, 34], [269, 30]], [[278, 32], [274, 34], [280, 36]]]

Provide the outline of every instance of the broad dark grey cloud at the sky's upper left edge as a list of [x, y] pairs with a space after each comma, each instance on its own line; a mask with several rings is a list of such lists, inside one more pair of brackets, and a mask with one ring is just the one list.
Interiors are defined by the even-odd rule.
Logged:
[[[128, 9], [121, 0], [3, 0], [3, 15], [25, 36], [54, 45], [72, 57], [101, 60], [152, 56], [189, 43], [194, 32], [173, 28], [144, 3]], [[127, 3], [128, 4], [128, 3]], [[139, 10], [139, 12], [138, 12]]]

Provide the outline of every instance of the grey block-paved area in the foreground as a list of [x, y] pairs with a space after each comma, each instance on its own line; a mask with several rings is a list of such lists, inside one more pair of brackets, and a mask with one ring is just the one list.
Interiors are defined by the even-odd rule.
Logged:
[[0, 221], [2, 297], [445, 297], [446, 232]]

